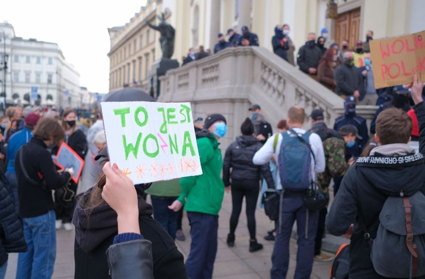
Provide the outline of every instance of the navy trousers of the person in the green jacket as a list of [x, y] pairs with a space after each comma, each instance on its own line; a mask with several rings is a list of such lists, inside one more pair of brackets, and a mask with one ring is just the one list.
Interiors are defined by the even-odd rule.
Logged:
[[212, 279], [217, 254], [218, 215], [188, 212], [191, 225], [191, 252], [186, 261], [189, 278]]

